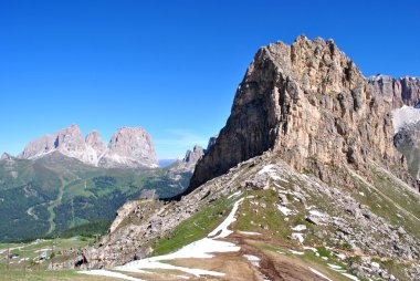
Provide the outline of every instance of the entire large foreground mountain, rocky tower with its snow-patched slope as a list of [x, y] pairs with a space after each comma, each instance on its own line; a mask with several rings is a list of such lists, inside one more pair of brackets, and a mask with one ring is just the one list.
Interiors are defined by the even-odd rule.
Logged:
[[393, 108], [332, 40], [260, 49], [188, 190], [127, 204], [90, 266], [138, 260], [113, 270], [145, 280], [419, 280], [420, 195]]

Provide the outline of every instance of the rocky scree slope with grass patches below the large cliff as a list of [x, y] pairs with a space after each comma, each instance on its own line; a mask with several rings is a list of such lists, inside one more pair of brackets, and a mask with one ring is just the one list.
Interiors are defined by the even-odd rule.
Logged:
[[[420, 197], [382, 166], [371, 164], [372, 184], [350, 167], [347, 169], [358, 183], [355, 189], [327, 185], [314, 175], [296, 171], [277, 155], [265, 153], [239, 164], [179, 201], [127, 202], [118, 210], [109, 233], [86, 250], [90, 264], [119, 266], [172, 252], [206, 237], [233, 202], [243, 198], [229, 226], [234, 233], [224, 239], [241, 247], [240, 252], [229, 256], [230, 261], [238, 259], [238, 267], [246, 262], [242, 254], [253, 254], [262, 261], [258, 270], [270, 280], [292, 280], [296, 278], [294, 270], [308, 278], [309, 268], [332, 280], [348, 280], [342, 273], [365, 279], [417, 280]], [[292, 262], [288, 275], [275, 266], [284, 260]], [[202, 262], [216, 261], [227, 262], [222, 256], [216, 256], [210, 261], [195, 260], [190, 267], [207, 269]], [[338, 267], [339, 274], [334, 267]], [[221, 279], [238, 278], [227, 274]], [[147, 275], [145, 280], [154, 278]]]

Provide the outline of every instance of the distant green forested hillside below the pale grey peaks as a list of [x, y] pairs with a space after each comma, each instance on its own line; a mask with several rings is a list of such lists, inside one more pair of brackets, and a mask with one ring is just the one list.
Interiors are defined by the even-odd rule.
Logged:
[[98, 220], [153, 190], [172, 197], [191, 171], [99, 168], [52, 152], [35, 160], [0, 160], [0, 241], [34, 239]]

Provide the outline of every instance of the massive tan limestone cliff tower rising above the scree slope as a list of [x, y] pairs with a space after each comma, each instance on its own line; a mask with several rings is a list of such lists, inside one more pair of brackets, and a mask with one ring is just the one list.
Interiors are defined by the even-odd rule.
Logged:
[[[265, 150], [336, 183], [351, 181], [345, 176], [347, 165], [368, 175], [369, 159], [399, 163], [391, 108], [389, 98], [332, 40], [298, 37], [292, 45], [263, 46], [187, 192]], [[407, 173], [399, 174], [409, 180]]]

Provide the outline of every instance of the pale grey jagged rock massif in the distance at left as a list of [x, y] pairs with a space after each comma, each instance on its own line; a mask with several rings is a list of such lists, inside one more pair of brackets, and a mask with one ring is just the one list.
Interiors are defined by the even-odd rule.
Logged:
[[84, 138], [78, 126], [71, 125], [29, 143], [18, 157], [36, 159], [53, 152], [101, 167], [157, 167], [158, 163], [151, 137], [141, 127], [118, 129], [106, 146], [96, 131]]

